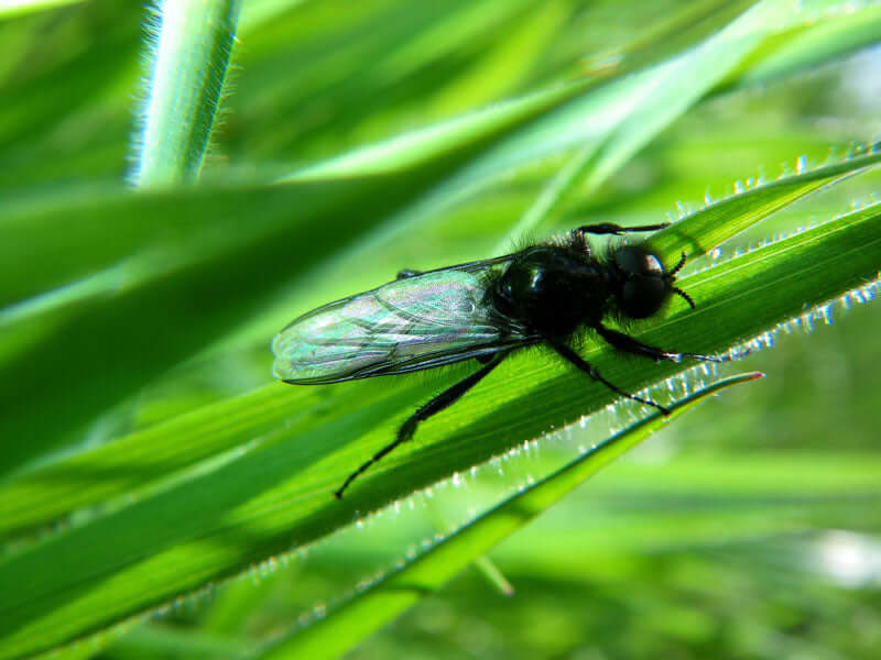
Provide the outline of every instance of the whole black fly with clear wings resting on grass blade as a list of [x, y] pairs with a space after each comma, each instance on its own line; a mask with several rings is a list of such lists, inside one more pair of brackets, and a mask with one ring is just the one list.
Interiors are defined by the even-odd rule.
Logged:
[[668, 410], [607, 381], [572, 348], [590, 329], [613, 348], [655, 361], [719, 358], [676, 353], [644, 344], [605, 324], [656, 314], [672, 295], [694, 308], [674, 283], [685, 254], [666, 270], [645, 248], [623, 245], [596, 255], [585, 234], [663, 229], [665, 224], [589, 224], [565, 239], [513, 254], [427, 271], [402, 271], [398, 279], [330, 302], [290, 323], [272, 342], [273, 373], [285, 383], [322, 384], [403, 374], [475, 359], [482, 366], [420, 407], [393, 442], [352, 472], [337, 497], [370, 465], [413, 438], [416, 427], [456, 403], [512, 351], [545, 343], [561, 358], [616, 394]]

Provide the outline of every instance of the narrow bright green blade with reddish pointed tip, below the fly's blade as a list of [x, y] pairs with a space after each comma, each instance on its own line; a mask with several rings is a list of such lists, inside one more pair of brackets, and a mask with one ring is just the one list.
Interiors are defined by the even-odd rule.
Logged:
[[[368, 587], [326, 618], [272, 646], [262, 660], [337, 658], [378, 628], [431, 595], [505, 537], [556, 504], [601, 468], [654, 431], [727, 387], [761, 377], [742, 374], [719, 381], [671, 406], [670, 419], [655, 413], [616, 433], [554, 474], [527, 486], [429, 550]], [[541, 551], [536, 548], [536, 551]]]

